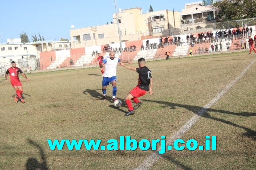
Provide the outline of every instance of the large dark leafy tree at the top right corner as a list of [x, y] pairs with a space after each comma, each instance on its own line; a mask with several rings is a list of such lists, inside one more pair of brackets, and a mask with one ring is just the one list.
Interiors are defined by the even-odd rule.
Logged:
[[214, 4], [217, 9], [217, 21], [241, 20], [256, 18], [256, 1], [222, 0]]

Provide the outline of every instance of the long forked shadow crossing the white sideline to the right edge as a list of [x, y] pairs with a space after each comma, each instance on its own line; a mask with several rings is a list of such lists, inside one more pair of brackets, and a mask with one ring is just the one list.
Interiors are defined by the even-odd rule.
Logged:
[[186, 104], [176, 104], [176, 103], [172, 103], [172, 102], [164, 102], [164, 101], [156, 101], [156, 100], [144, 100], [146, 102], [154, 102], [154, 103], [158, 103], [158, 104], [164, 104], [164, 106], [162, 107], [170, 107], [170, 109], [176, 109], [176, 107], [183, 107], [193, 113], [195, 113], [196, 115], [202, 116], [202, 117], [206, 117], [208, 119], [212, 119], [212, 120], [216, 120], [216, 121], [220, 121], [222, 123], [226, 123], [228, 125], [232, 125], [234, 127], [239, 127], [244, 129], [246, 132], [244, 133], [244, 135], [246, 137], [252, 137], [254, 138], [254, 140], [256, 139], [256, 131], [249, 129], [247, 127], [238, 125], [236, 123], [233, 123], [231, 121], [227, 121], [224, 119], [220, 119], [217, 117], [212, 117], [209, 113], [212, 112], [218, 112], [218, 113], [224, 113], [224, 114], [231, 114], [231, 115], [237, 115], [237, 116], [256, 116], [256, 113], [253, 112], [241, 112], [241, 113], [235, 113], [232, 111], [225, 111], [225, 110], [220, 110], [220, 109], [207, 109], [204, 107], [200, 107], [200, 106], [191, 106], [191, 105], [186, 105]]

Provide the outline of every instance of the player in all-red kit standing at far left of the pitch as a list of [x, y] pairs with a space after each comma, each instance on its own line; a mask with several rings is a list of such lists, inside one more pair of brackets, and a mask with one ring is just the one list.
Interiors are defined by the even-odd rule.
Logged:
[[9, 80], [8, 74], [10, 73], [10, 80], [13, 88], [16, 90], [16, 96], [15, 96], [15, 103], [18, 103], [18, 100], [22, 103], [25, 103], [24, 99], [22, 99], [22, 92], [23, 92], [23, 87], [19, 79], [19, 73], [22, 74], [26, 80], [29, 81], [27, 76], [20, 70], [20, 68], [16, 67], [15, 61], [12, 61], [12, 67], [8, 68], [8, 70], [5, 73], [5, 78], [6, 80]]

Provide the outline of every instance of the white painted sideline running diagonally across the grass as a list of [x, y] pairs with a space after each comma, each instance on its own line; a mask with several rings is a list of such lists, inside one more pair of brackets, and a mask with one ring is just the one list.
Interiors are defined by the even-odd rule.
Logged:
[[[172, 137], [170, 137], [169, 140], [166, 140], [166, 146], [172, 145], [176, 139], [180, 139], [186, 131], [188, 131], [196, 121], [206, 112], [207, 109], [209, 109], [215, 102], [217, 102], [245, 73], [246, 71], [252, 66], [252, 64], [256, 61], [254, 59], [252, 63], [250, 63], [242, 73], [235, 78], [230, 84], [228, 84], [222, 92], [220, 92], [215, 98], [213, 98], [208, 104], [206, 104], [196, 115], [194, 115], [185, 125], [180, 128], [178, 132], [176, 132]], [[152, 155], [150, 155], [142, 164], [140, 164], [136, 170], [148, 170], [150, 169], [161, 157], [160, 154], [158, 154], [159, 150], [156, 150]]]

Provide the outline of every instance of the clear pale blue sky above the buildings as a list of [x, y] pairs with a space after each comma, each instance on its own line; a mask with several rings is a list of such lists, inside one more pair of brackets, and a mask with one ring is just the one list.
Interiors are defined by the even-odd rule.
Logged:
[[121, 8], [142, 8], [146, 13], [150, 5], [154, 11], [181, 12], [186, 3], [200, 0], [2, 0], [0, 43], [8, 38], [20, 38], [27, 33], [30, 42], [38, 33], [45, 40], [70, 40], [71, 25], [74, 29], [105, 25], [113, 21], [112, 14]]

